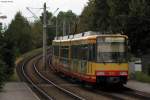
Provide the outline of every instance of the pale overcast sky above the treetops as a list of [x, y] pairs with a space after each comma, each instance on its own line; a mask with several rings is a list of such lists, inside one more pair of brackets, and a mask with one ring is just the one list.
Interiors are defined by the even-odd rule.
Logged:
[[[54, 12], [57, 8], [59, 8], [59, 11], [72, 10], [77, 15], [80, 15], [88, 0], [13, 0], [13, 3], [0, 2], [0, 16], [7, 15], [7, 19], [0, 19], [0, 22], [5, 24], [10, 23], [18, 11], [22, 12], [25, 17], [32, 17], [32, 14], [26, 9], [26, 7], [41, 8], [43, 7], [44, 2], [47, 3], [47, 7], [49, 7], [48, 10], [51, 12]], [[31, 10], [37, 16], [39, 16], [42, 12], [42, 10], [39, 9]], [[56, 14], [58, 14], [58, 12]], [[28, 20], [33, 20], [33, 18], [28, 18]]]

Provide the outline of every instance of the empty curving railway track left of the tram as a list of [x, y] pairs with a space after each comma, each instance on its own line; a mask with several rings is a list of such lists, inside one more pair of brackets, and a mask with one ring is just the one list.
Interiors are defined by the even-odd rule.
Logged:
[[[41, 57], [39, 57], [39, 58], [41, 58]], [[35, 59], [35, 61], [38, 61], [38, 59]], [[44, 100], [45, 99], [46, 100], [58, 100], [58, 96], [59, 96], [59, 98], [61, 98], [61, 100], [85, 100], [84, 98], [82, 98], [82, 97], [72, 93], [71, 91], [68, 91], [68, 90], [56, 85], [52, 81], [46, 79], [36, 69], [35, 64], [33, 64], [34, 61], [32, 61], [32, 65], [31, 65], [31, 61], [32, 61], [32, 59], [29, 59], [29, 60], [23, 62], [22, 66], [21, 66], [22, 75], [23, 75], [25, 81], [29, 83], [30, 87], [34, 88], [34, 90], [36, 92], [38, 92], [38, 94], [42, 94], [42, 100], [43, 99]], [[31, 75], [31, 71], [28, 72], [29, 71], [28, 66], [30, 68], [32, 67], [32, 69], [30, 69], [30, 70], [32, 70], [32, 73], [34, 73], [34, 76], [33, 76], [33, 74]], [[35, 79], [35, 78], [37, 78], [37, 79]], [[37, 80], [39, 80], [39, 82]], [[50, 91], [52, 91], [53, 93], [51, 94]], [[54, 95], [54, 91], [55, 92], [57, 91], [55, 95]]]

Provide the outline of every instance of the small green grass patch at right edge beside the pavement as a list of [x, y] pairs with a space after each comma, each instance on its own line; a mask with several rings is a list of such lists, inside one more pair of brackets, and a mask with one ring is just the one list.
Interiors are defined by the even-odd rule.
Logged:
[[150, 83], [150, 76], [142, 72], [136, 72], [135, 79], [140, 82]]

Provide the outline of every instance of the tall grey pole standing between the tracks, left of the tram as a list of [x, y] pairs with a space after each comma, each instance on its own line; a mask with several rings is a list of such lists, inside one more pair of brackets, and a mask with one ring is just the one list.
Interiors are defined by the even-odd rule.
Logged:
[[43, 13], [43, 67], [46, 71], [47, 69], [47, 23], [46, 23], [46, 3], [44, 3], [44, 13]]

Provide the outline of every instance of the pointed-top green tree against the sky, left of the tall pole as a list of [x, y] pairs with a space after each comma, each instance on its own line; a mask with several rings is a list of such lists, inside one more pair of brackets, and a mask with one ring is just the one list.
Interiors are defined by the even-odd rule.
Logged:
[[32, 49], [31, 27], [20, 12], [16, 14], [6, 33], [12, 37], [11, 41], [14, 42], [19, 53], [22, 54]]

